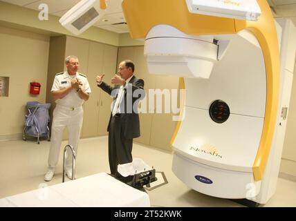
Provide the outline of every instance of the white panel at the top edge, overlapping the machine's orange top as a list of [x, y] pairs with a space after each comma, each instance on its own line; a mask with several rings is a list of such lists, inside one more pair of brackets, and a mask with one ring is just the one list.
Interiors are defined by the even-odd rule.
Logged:
[[261, 9], [256, 0], [186, 0], [189, 12], [201, 15], [257, 21]]

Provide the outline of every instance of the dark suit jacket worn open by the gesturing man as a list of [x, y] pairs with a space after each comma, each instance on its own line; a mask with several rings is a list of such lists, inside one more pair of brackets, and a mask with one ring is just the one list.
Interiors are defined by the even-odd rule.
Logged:
[[[109, 86], [104, 81], [98, 86], [106, 93], [109, 93], [109, 95], [111, 95], [112, 90], [118, 90], [120, 88], [120, 86]], [[118, 93], [116, 94], [118, 95]], [[124, 137], [127, 139], [140, 137], [140, 119], [138, 115], [138, 108], [133, 108], [133, 106], [138, 107], [138, 102], [140, 102], [140, 100], [144, 97], [144, 81], [133, 75], [129, 83], [124, 88], [124, 100], [122, 99], [122, 103], [120, 105], [120, 119], [123, 126]], [[109, 131], [111, 117], [109, 119], [107, 131]]]

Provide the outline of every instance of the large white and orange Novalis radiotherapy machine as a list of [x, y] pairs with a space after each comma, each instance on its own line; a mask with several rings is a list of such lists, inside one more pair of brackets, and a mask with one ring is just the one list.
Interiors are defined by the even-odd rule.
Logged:
[[182, 77], [172, 170], [198, 192], [265, 204], [284, 144], [295, 27], [276, 22], [265, 0], [258, 21], [197, 15], [190, 3], [122, 1], [131, 37], [145, 38], [149, 72]]

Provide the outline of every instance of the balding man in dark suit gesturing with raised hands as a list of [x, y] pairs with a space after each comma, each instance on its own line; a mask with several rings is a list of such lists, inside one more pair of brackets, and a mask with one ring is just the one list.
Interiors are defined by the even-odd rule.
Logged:
[[109, 166], [112, 175], [121, 177], [118, 164], [127, 164], [133, 161], [131, 151], [133, 138], [140, 137], [140, 120], [138, 115], [138, 102], [145, 97], [144, 81], [134, 74], [133, 61], [124, 60], [118, 66], [111, 83], [106, 84], [103, 75], [97, 76], [98, 87], [102, 88], [111, 97], [114, 97], [111, 106], [111, 117], [107, 131], [109, 131]]

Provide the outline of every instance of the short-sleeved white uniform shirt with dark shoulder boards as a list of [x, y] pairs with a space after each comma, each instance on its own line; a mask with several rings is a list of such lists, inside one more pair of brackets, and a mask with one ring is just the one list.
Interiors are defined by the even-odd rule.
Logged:
[[[82, 82], [82, 90], [85, 93], [91, 93], [91, 87], [89, 86], [89, 81], [87, 81], [85, 75], [82, 75], [78, 72], [76, 73], [76, 75], [69, 75], [67, 71], [55, 75], [55, 80], [53, 81], [53, 87], [51, 88], [51, 91], [53, 92], [56, 90], [68, 88], [69, 86], [71, 86], [71, 80], [75, 77], [77, 77], [77, 79]], [[81, 99], [77, 91], [73, 89], [62, 99], [55, 100], [55, 103], [69, 108], [76, 108], [82, 106], [82, 104], [84, 103], [84, 99]]]

